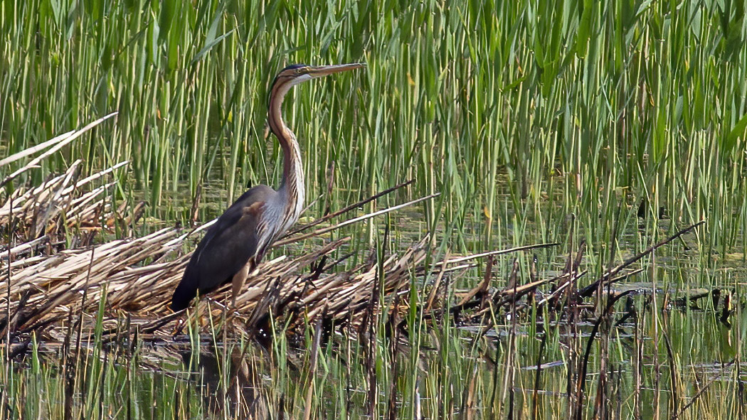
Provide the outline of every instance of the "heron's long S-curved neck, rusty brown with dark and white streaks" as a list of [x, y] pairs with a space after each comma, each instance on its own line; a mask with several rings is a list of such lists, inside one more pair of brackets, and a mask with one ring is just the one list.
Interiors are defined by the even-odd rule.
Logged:
[[[303, 209], [303, 200], [306, 186], [303, 183], [303, 163], [301, 162], [301, 151], [296, 141], [296, 136], [282, 119], [282, 102], [285, 94], [294, 83], [283, 83], [273, 86], [270, 93], [270, 107], [267, 111], [267, 122], [270, 130], [280, 142], [283, 151], [282, 183], [278, 189], [279, 194], [285, 198], [285, 214], [290, 216], [288, 225], [292, 225], [300, 216]], [[286, 227], [287, 228], [287, 227]]]

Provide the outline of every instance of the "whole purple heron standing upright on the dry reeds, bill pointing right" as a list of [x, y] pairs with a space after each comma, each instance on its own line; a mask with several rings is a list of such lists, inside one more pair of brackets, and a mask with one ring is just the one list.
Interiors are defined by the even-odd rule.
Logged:
[[235, 301], [249, 272], [273, 241], [298, 220], [303, 209], [306, 186], [301, 151], [281, 114], [285, 94], [304, 81], [362, 66], [359, 63], [318, 67], [297, 64], [278, 73], [270, 89], [267, 122], [283, 151], [282, 183], [277, 190], [266, 185], [252, 187], [208, 229], [174, 290], [172, 310], [185, 309], [196, 295], [229, 281], [233, 283]]

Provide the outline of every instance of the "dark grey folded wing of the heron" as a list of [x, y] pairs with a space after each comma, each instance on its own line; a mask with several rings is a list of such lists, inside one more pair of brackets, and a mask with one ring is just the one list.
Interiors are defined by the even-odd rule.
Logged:
[[210, 292], [231, 280], [257, 252], [257, 224], [275, 190], [266, 185], [244, 192], [208, 229], [187, 264], [171, 298], [171, 309], [182, 310], [199, 292]]

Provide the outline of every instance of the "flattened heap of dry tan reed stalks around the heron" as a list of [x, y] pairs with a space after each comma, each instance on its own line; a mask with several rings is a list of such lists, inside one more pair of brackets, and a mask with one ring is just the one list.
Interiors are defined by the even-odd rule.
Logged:
[[[25, 234], [37, 235], [7, 250], [7, 255], [13, 257], [12, 264], [6, 266], [13, 281], [9, 284], [7, 277], [0, 280], [0, 287], [10, 292], [10, 298], [0, 299], [0, 304], [7, 307], [12, 314], [10, 317], [16, 322], [14, 333], [31, 333], [45, 327], [49, 330], [46, 338], [62, 337], [61, 328], [69, 314], [95, 313], [103, 293], [106, 293], [108, 310], [105, 325], [119, 319], [119, 311], [128, 313], [136, 325], [138, 322], [147, 325], [154, 318], [163, 319], [170, 314], [167, 302], [190, 257], [189, 254], [180, 253], [190, 233], [182, 234], [179, 229], [166, 228], [140, 238], [115, 239], [90, 248], [57, 252], [48, 249], [49, 254], [32, 254], [40, 247], [50, 245], [52, 237], [63, 233], [63, 228], [77, 225], [84, 229], [100, 229], [101, 219], [121, 219], [123, 206], [115, 211], [111, 204], [100, 198], [114, 183], [108, 182], [90, 188], [90, 191], [82, 191], [90, 187], [93, 181], [105, 177], [125, 163], [76, 181], [80, 163], [74, 162], [65, 173], [49, 178], [38, 187], [16, 189], [10, 198], [16, 203], [13, 208], [10, 208], [10, 199], [0, 207], [0, 226], [8, 226], [12, 216], [23, 226]], [[300, 236], [317, 237], [424, 199], [427, 198]], [[105, 223], [105, 226], [108, 224]], [[191, 234], [204, 230], [207, 225]], [[298, 237], [291, 238], [287, 243], [297, 240]], [[350, 308], [362, 311], [368, 303], [371, 287], [377, 281], [376, 267], [359, 266], [347, 272], [324, 274], [317, 272], [313, 282], [308, 276], [299, 274], [308, 272], [316, 261], [337, 251], [346, 242], [347, 239], [338, 239], [299, 257], [281, 257], [262, 263], [247, 280], [244, 292], [238, 297], [238, 312], [229, 316], [229, 322], [241, 320], [238, 314], [252, 313], [258, 308], [259, 302], [267, 301], [265, 294], [270, 281], [277, 284], [277, 298], [267, 308], [270, 313], [289, 313], [297, 318], [298, 325], [302, 320], [306, 322], [320, 318], [325, 313], [324, 308], [327, 308], [326, 313], [331, 319], [347, 322], [355, 319], [350, 317]], [[426, 255], [426, 244], [426, 240], [418, 242], [402, 255], [391, 256], [383, 263], [387, 279], [384, 285], [386, 293], [400, 292], [403, 286], [409, 284], [412, 268], [418, 266]], [[219, 290], [217, 294], [222, 292]], [[84, 317], [82, 322], [90, 322], [90, 319]], [[244, 325], [245, 330], [247, 327], [251, 329], [254, 326]]]

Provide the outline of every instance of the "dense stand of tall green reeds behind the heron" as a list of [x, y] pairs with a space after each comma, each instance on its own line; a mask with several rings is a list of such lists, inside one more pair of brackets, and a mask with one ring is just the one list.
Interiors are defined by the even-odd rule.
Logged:
[[[309, 197], [326, 193], [335, 164], [333, 196], [311, 216], [414, 178], [409, 195], [443, 194], [425, 209], [430, 227], [480, 226], [450, 238], [464, 251], [500, 241], [504, 210], [557, 225], [623, 193], [629, 206], [645, 198], [649, 216], [708, 219], [704, 239], [719, 252], [743, 248], [740, 7], [31, 1], [2, 13], [5, 153], [120, 111], [35, 180], [73, 157], [89, 172], [130, 160], [118, 195], [185, 221], [208, 187], [208, 219], [247, 184], [278, 182], [281, 154], [264, 129], [274, 73], [363, 61], [285, 106]], [[559, 211], [542, 209], [548, 195]]]

